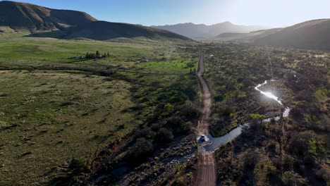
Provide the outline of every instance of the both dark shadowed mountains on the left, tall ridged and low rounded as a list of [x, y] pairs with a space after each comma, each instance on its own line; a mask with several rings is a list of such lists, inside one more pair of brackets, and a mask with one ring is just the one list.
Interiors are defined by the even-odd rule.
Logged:
[[0, 1], [0, 32], [27, 32], [32, 37], [59, 39], [147, 38], [194, 42], [182, 35], [166, 30], [99, 21], [80, 11], [56, 10], [16, 1]]

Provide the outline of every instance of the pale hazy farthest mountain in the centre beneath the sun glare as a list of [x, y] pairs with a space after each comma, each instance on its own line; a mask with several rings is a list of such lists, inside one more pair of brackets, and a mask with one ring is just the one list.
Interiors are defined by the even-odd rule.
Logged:
[[261, 26], [243, 26], [233, 25], [230, 22], [219, 23], [216, 25], [195, 25], [193, 23], [183, 23], [177, 25], [164, 25], [164, 26], [152, 26], [163, 30], [169, 30], [185, 37], [193, 39], [202, 39], [207, 37], [216, 37], [225, 32], [238, 32], [247, 33], [255, 30], [267, 29], [268, 27]]

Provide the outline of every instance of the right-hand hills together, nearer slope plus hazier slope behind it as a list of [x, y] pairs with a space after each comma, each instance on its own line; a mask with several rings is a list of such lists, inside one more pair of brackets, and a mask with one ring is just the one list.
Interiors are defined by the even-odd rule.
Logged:
[[224, 33], [210, 37], [214, 42], [250, 42], [257, 45], [297, 49], [330, 50], [330, 19], [309, 20], [291, 27], [257, 30], [249, 33]]

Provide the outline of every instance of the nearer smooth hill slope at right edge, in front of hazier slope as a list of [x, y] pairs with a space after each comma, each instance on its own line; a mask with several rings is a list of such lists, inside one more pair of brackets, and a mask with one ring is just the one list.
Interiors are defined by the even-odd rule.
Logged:
[[266, 37], [255, 39], [255, 44], [330, 50], [330, 19], [310, 20]]

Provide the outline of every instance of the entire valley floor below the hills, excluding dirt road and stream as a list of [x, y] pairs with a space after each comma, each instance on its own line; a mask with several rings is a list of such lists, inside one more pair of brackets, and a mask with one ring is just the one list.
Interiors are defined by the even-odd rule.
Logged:
[[[193, 185], [204, 53], [216, 185], [329, 185], [329, 61], [245, 44], [0, 37], [0, 185]], [[109, 57], [70, 59], [86, 53]], [[11, 54], [11, 55], [8, 55]], [[149, 62], [143, 62], [149, 59]], [[263, 87], [292, 108], [255, 91]]]

